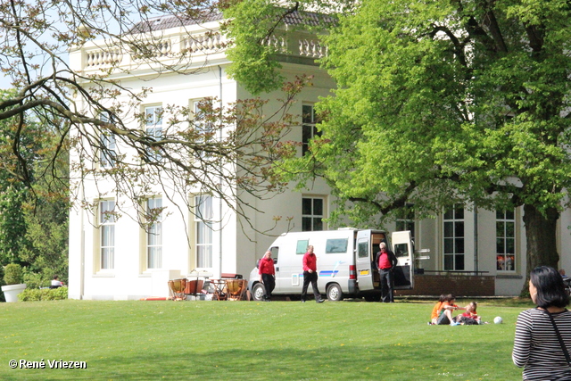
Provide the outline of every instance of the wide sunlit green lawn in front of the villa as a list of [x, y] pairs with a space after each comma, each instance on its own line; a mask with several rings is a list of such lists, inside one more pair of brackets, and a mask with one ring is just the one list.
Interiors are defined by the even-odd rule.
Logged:
[[426, 325], [433, 302], [0, 303], [0, 379], [516, 380], [527, 306], [482, 302], [484, 320], [504, 324], [450, 327]]

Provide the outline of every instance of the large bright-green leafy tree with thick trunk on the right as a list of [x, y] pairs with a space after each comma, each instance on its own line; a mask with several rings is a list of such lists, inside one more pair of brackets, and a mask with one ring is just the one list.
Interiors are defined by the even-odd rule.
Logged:
[[358, 221], [406, 203], [419, 216], [453, 203], [523, 206], [527, 269], [557, 267], [571, 186], [570, 21], [566, 0], [360, 2], [323, 38], [338, 88], [319, 105], [322, 136], [285, 169], [327, 178], [338, 211]]

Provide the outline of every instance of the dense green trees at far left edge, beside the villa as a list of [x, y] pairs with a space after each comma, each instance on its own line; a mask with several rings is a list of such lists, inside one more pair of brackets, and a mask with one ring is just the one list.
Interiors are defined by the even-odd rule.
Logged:
[[[0, 90], [0, 101], [13, 95]], [[44, 168], [44, 158], [62, 149], [55, 128], [38, 120], [0, 120], [0, 265], [20, 263], [30, 286], [49, 282], [54, 274], [67, 278], [68, 153], [62, 150], [51, 161], [55, 171]], [[55, 178], [56, 172], [66, 180]]]

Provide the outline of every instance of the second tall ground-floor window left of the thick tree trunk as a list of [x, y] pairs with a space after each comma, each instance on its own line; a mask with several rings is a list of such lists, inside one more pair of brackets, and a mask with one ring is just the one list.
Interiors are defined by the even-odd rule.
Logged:
[[465, 269], [464, 208], [461, 204], [444, 213], [444, 269]]

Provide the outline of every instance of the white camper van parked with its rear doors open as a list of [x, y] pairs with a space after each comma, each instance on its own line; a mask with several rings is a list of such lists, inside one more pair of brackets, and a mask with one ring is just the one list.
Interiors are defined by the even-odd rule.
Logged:
[[[394, 288], [412, 288], [414, 248], [410, 231], [393, 232], [389, 238], [382, 230], [340, 228], [278, 236], [269, 246], [276, 267], [276, 288], [272, 294], [301, 296], [302, 258], [307, 246], [313, 245], [317, 256], [319, 292], [325, 291], [327, 299], [336, 302], [343, 297], [365, 297], [369, 302], [380, 301], [380, 277], [373, 262], [381, 242], [393, 250], [399, 261]], [[253, 300], [262, 300], [265, 290], [257, 267], [250, 273], [248, 288]]]

